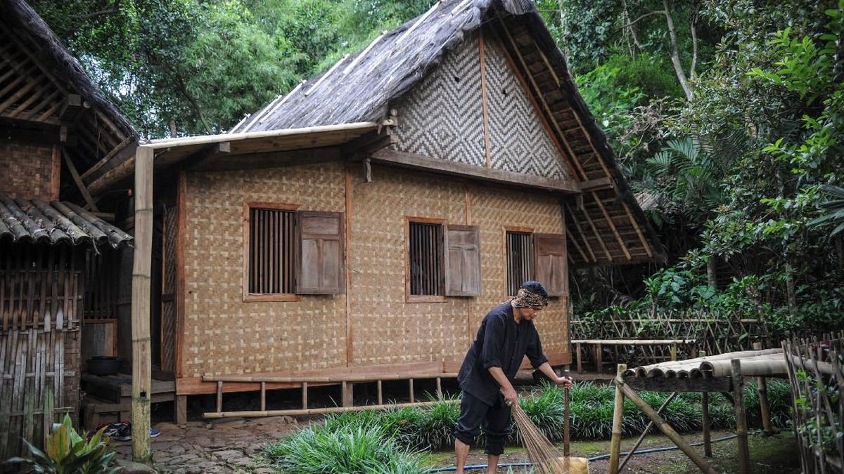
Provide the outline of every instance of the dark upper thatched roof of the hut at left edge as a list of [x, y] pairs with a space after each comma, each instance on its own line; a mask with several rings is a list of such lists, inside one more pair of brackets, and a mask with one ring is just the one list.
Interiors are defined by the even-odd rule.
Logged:
[[[76, 58], [24, 0], [0, 0], [0, 42], [12, 46], [6, 67], [23, 75], [22, 84], [36, 84], [10, 90], [14, 97], [0, 97], [4, 105], [0, 117], [46, 127], [71, 127], [78, 139], [68, 151], [80, 174], [106, 156], [115, 158], [116, 153], [109, 154], [118, 146], [117, 151], [131, 152], [133, 147], [127, 145], [138, 142], [138, 132], [91, 83]], [[62, 117], [71, 94], [82, 100], [78, 116]], [[125, 154], [117, 158], [125, 159]], [[95, 180], [109, 168], [111, 164], [100, 164], [98, 173], [86, 176], [86, 181]]]

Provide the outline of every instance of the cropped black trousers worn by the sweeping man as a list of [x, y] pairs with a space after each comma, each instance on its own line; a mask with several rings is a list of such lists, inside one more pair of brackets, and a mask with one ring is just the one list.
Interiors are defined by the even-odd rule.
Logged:
[[484, 428], [486, 446], [484, 452], [488, 455], [500, 455], [504, 452], [504, 441], [510, 435], [510, 407], [504, 402], [504, 396], [499, 394], [495, 404], [487, 405], [476, 396], [463, 391], [460, 402], [460, 417], [454, 428], [454, 437], [468, 445], [473, 445], [475, 439]]

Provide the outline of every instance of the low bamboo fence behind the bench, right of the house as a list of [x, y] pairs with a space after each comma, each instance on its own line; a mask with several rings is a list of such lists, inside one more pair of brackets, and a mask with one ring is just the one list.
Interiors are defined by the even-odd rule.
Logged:
[[[754, 342], [767, 342], [765, 320], [706, 311], [624, 312], [571, 316], [571, 339], [695, 339], [697, 353], [721, 354], [747, 351]], [[677, 358], [694, 357], [693, 347], [683, 346]], [[670, 360], [669, 345], [630, 345], [614, 348], [615, 362], [631, 366]], [[587, 351], [587, 357], [592, 354]], [[593, 361], [592, 361], [593, 362]]]

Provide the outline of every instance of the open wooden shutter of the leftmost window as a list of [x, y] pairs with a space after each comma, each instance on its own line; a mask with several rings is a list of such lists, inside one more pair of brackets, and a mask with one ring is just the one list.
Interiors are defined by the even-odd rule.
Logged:
[[345, 292], [343, 213], [299, 211], [297, 294]]

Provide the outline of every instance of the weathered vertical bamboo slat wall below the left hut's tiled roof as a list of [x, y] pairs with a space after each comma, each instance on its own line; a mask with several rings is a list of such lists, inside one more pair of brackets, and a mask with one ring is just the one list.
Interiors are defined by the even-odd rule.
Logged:
[[76, 416], [81, 286], [79, 272], [0, 271], [0, 460]]

